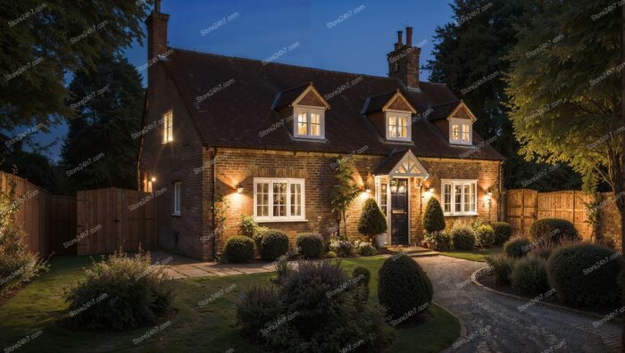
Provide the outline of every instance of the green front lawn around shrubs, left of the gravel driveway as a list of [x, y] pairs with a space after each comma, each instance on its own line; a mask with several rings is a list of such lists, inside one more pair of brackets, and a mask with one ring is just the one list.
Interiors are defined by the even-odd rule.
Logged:
[[[381, 257], [345, 259], [342, 266], [351, 272], [363, 266], [371, 271], [371, 302], [377, 302], [378, 268]], [[77, 351], [203, 351], [225, 352], [229, 349], [262, 352], [245, 341], [235, 325], [235, 302], [238, 292], [253, 284], [268, 284], [273, 274], [204, 277], [177, 281], [178, 295], [174, 308], [178, 314], [171, 322], [162, 320], [162, 329], [146, 335], [154, 326], [129, 332], [70, 332], [58, 319], [69, 316], [63, 301], [63, 288], [83, 278], [81, 267], [90, 264], [84, 257], [61, 257], [51, 261], [51, 270], [30, 283], [0, 308], [0, 348], [12, 347], [27, 338], [17, 351], [77, 352]], [[222, 291], [202, 308], [198, 302]], [[213, 296], [214, 297], [214, 296]], [[433, 305], [433, 315], [418, 326], [399, 330], [399, 336], [389, 351], [438, 352], [450, 346], [460, 334], [460, 324], [444, 309]], [[137, 345], [133, 340], [145, 339]], [[149, 336], [149, 337], [147, 337]]]

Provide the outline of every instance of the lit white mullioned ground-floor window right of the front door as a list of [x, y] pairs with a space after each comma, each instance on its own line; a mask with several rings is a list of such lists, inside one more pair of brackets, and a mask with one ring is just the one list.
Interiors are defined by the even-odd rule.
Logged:
[[475, 216], [478, 214], [477, 180], [441, 180], [441, 195], [445, 216]]

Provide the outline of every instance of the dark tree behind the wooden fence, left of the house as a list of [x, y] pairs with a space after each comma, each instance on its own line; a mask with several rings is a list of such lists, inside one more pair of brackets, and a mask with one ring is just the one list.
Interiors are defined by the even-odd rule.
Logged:
[[70, 121], [63, 144], [66, 176], [80, 188], [137, 186], [137, 140], [144, 90], [137, 70], [121, 55], [102, 54], [96, 71], [71, 81]]

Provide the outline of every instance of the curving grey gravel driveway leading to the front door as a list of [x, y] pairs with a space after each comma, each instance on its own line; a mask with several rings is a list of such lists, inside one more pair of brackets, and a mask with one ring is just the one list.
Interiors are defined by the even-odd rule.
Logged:
[[449, 351], [460, 352], [618, 352], [621, 326], [593, 322], [554, 308], [519, 307], [515, 300], [471, 283], [484, 263], [446, 256], [417, 259], [434, 285], [434, 300], [462, 319], [467, 335]]

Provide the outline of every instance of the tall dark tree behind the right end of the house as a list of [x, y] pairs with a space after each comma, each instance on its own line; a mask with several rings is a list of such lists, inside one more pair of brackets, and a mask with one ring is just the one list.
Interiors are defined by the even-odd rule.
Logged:
[[[454, 0], [454, 21], [436, 29], [434, 60], [425, 65], [429, 79], [449, 86], [479, 117], [475, 130], [506, 158], [506, 188], [527, 187], [546, 165], [523, 160], [519, 142], [508, 119], [508, 95], [504, 72], [510, 62], [504, 57], [516, 44], [516, 26], [527, 22], [521, 0]], [[475, 85], [479, 83], [479, 85]], [[579, 187], [580, 179], [570, 168], [557, 168], [549, 178], [531, 184], [540, 191]]]

